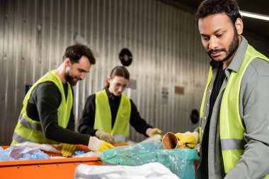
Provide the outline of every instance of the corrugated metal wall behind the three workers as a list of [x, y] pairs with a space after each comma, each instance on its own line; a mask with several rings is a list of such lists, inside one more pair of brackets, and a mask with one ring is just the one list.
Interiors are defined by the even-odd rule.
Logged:
[[[164, 132], [197, 126], [189, 115], [200, 108], [209, 60], [192, 13], [156, 0], [0, 0], [1, 145], [11, 142], [25, 85], [57, 68], [75, 34], [99, 53], [74, 88], [76, 124], [86, 97], [103, 88], [110, 70], [120, 65], [120, 50], [128, 48], [133, 62], [127, 69], [137, 89], [125, 94], [140, 115]], [[175, 94], [175, 86], [183, 86], [184, 94]], [[134, 141], [144, 139], [134, 129], [130, 134]]]

